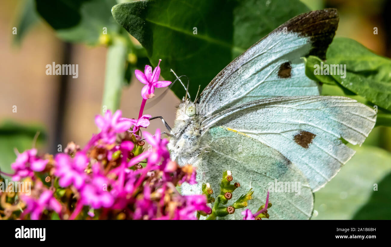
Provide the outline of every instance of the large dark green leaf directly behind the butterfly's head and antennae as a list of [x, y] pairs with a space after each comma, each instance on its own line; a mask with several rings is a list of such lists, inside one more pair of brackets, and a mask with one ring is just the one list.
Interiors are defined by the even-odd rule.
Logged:
[[[203, 89], [228, 63], [290, 18], [309, 9], [297, 0], [149, 0], [115, 5], [114, 19], [161, 61], [170, 81], [187, 75], [189, 92]], [[180, 84], [172, 90], [185, 95]]]

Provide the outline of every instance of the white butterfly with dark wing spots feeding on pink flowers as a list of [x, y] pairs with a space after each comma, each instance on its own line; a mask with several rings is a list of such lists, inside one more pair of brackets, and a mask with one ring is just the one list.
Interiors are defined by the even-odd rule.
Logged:
[[179, 165], [197, 166], [199, 182], [183, 184], [184, 194], [200, 193], [202, 183], [218, 191], [231, 170], [241, 193], [253, 188], [249, 207], [257, 209], [271, 183], [300, 182], [300, 195], [270, 194], [270, 218], [311, 217], [312, 192], [354, 154], [341, 138], [361, 145], [376, 120], [351, 98], [319, 96], [319, 84], [305, 76], [301, 57], [324, 57], [338, 20], [335, 9], [296, 16], [228, 64], [197, 102], [183, 99], [169, 149]]

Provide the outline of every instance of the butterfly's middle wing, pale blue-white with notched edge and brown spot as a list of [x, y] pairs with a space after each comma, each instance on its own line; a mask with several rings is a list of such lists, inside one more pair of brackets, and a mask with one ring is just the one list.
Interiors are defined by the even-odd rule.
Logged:
[[[330, 181], [354, 154], [341, 138], [353, 145], [361, 145], [375, 121], [373, 109], [351, 98], [279, 97], [222, 111], [207, 118], [203, 129], [229, 128], [277, 150], [301, 170], [310, 188], [316, 191]], [[238, 163], [237, 169], [248, 165]], [[236, 170], [232, 172], [236, 173]]]

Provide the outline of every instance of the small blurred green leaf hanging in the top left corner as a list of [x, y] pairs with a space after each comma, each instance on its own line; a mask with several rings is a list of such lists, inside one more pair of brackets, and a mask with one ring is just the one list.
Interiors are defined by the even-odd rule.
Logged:
[[35, 10], [34, 0], [25, 0], [22, 3], [22, 10], [16, 21], [16, 34], [13, 35], [13, 42], [19, 45], [27, 32], [39, 21], [39, 15]]

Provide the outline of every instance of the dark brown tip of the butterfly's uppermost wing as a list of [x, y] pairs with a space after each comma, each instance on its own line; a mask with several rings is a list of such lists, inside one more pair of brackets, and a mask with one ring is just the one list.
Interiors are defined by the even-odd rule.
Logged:
[[339, 14], [337, 9], [323, 9], [300, 14], [281, 25], [278, 30], [287, 27], [288, 32], [297, 32], [311, 38], [312, 49], [308, 55], [325, 59], [328, 45], [337, 30]]

